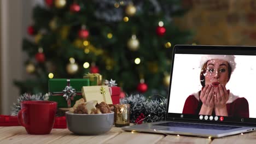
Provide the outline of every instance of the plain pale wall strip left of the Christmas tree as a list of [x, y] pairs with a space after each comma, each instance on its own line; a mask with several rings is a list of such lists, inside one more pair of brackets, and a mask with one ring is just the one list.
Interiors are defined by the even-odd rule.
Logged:
[[13, 80], [21, 77], [21, 1], [1, 1], [1, 98], [2, 114], [9, 114], [18, 96]]

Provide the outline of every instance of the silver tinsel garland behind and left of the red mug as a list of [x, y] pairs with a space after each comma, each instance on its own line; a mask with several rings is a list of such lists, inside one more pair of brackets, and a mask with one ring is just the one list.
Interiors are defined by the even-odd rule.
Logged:
[[38, 94], [28, 94], [24, 93], [21, 94], [20, 97], [18, 98], [17, 104], [13, 104], [11, 107], [11, 116], [17, 116], [18, 112], [21, 110], [20, 103], [21, 101], [28, 101], [28, 100], [48, 100], [48, 94], [42, 95], [42, 93]]

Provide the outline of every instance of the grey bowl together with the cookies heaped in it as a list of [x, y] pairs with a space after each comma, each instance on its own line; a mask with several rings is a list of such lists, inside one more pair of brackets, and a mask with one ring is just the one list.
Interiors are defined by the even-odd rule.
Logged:
[[114, 112], [103, 101], [77, 100], [75, 105], [66, 112], [69, 131], [77, 135], [100, 135], [109, 131], [114, 122]]

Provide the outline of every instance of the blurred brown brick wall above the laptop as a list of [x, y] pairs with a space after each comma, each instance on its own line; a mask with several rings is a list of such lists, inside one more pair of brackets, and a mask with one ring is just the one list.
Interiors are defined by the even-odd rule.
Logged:
[[184, 0], [190, 10], [178, 23], [203, 45], [256, 45], [256, 1]]

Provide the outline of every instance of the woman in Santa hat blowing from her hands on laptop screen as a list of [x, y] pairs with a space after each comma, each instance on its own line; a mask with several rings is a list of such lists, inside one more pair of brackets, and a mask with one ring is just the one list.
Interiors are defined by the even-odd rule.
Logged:
[[201, 91], [189, 95], [183, 113], [249, 117], [248, 101], [226, 89], [236, 68], [233, 55], [203, 55], [200, 62]]

